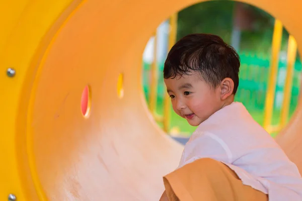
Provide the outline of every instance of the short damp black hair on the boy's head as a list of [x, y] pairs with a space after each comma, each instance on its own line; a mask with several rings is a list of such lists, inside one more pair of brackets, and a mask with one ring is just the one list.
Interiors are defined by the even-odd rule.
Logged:
[[234, 81], [233, 94], [239, 85], [240, 57], [236, 50], [219, 36], [190, 34], [180, 39], [169, 51], [164, 78], [199, 71], [202, 78], [216, 87], [224, 78]]

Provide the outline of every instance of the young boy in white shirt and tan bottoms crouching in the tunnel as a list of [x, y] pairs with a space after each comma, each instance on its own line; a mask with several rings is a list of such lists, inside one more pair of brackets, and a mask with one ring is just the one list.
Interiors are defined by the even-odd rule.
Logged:
[[175, 113], [198, 126], [160, 200], [302, 200], [302, 179], [274, 139], [234, 102], [240, 58], [218, 36], [192, 34], [164, 67]]

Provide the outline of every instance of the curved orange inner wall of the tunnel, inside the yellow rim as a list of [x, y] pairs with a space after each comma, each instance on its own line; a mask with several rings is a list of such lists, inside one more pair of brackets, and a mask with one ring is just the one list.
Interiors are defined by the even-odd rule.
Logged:
[[[88, 0], [61, 24], [47, 50], [38, 50], [44, 56], [37, 73], [28, 75], [34, 77], [32, 90], [23, 91], [24, 103], [29, 103], [22, 113], [27, 119], [18, 116], [19, 122], [27, 121], [26, 130], [20, 127], [16, 135], [26, 136], [27, 142], [27, 156], [23, 149], [18, 153], [29, 164], [19, 161], [20, 172], [29, 169], [40, 200], [159, 199], [162, 176], [177, 167], [183, 147], [165, 136], [147, 112], [141, 55], [163, 20], [197, 2]], [[299, 0], [243, 2], [281, 20], [301, 50]], [[122, 96], [117, 91], [120, 73]], [[86, 85], [91, 105], [84, 118], [81, 97]], [[277, 138], [300, 170], [301, 107]], [[29, 180], [24, 179], [24, 185]]]

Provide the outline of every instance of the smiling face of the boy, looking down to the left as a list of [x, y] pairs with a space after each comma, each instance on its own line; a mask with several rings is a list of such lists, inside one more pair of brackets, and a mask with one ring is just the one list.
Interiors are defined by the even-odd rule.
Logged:
[[198, 126], [222, 107], [221, 90], [209, 86], [199, 72], [165, 79], [165, 84], [173, 110], [191, 126]]

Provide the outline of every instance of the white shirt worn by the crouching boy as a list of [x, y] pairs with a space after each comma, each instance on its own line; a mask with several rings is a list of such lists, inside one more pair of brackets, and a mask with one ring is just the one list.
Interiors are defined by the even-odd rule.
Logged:
[[296, 165], [241, 103], [222, 108], [198, 126], [178, 168], [199, 158], [228, 165], [244, 184], [268, 194], [269, 201], [302, 200]]

